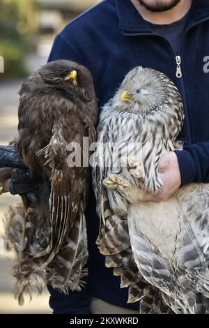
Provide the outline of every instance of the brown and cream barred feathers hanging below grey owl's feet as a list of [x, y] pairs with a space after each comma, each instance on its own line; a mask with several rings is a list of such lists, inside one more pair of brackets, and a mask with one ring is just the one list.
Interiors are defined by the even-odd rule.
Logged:
[[[105, 211], [108, 215], [111, 210]], [[127, 218], [111, 215], [105, 218], [98, 237], [100, 253], [105, 255], [106, 267], [114, 268], [114, 275], [121, 276], [121, 288], [129, 288], [128, 302], [144, 297], [147, 283], [139, 274], [130, 247]]]

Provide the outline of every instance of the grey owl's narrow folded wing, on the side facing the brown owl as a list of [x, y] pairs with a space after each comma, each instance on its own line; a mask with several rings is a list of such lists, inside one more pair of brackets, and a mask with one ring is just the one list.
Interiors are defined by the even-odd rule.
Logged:
[[114, 268], [114, 275], [121, 276], [121, 288], [129, 288], [129, 302], [139, 301], [145, 293], [147, 283], [142, 278], [134, 262], [127, 226], [127, 209], [119, 193], [115, 193], [115, 208], [121, 204], [122, 213], [114, 212], [114, 204], [109, 203], [109, 191], [102, 181], [109, 172], [109, 159], [114, 162], [110, 147], [111, 133], [108, 127], [98, 126], [98, 149], [94, 154], [93, 189], [97, 200], [97, 212], [100, 218], [100, 230], [97, 239], [100, 253], [105, 256], [106, 267]]

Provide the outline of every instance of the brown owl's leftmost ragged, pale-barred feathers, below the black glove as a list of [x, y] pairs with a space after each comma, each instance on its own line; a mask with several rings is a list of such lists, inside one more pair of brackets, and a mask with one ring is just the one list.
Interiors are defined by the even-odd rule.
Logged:
[[[41, 268], [41, 256], [35, 258], [29, 255], [29, 250], [24, 243], [25, 217], [22, 202], [14, 204], [8, 208], [3, 220], [5, 226], [5, 247], [8, 251], [14, 251], [15, 256], [11, 261], [12, 275], [15, 278], [13, 295], [20, 306], [24, 304], [24, 296], [32, 298], [32, 290], [36, 288], [38, 295], [41, 294], [44, 286], [46, 274]], [[30, 234], [29, 234], [30, 235]], [[36, 237], [31, 240], [32, 251], [36, 247]], [[23, 246], [25, 245], [25, 246]], [[35, 246], [34, 246], [35, 245]], [[23, 249], [24, 248], [24, 249]], [[26, 248], [26, 252], [25, 251]], [[42, 253], [42, 247], [37, 248]]]

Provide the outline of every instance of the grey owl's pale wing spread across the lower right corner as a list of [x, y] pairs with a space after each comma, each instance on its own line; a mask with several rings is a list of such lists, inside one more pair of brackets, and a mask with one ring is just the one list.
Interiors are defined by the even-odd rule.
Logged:
[[[169, 205], [171, 207], [171, 201], [167, 204]], [[150, 206], [152, 213], [156, 216], [159, 212], [159, 205], [152, 202]], [[148, 283], [162, 291], [162, 298], [175, 313], [196, 313], [197, 293], [205, 297], [209, 296], [209, 271], [192, 228], [176, 201], [176, 216], [172, 214], [171, 218], [176, 221], [176, 225], [179, 225], [179, 229], [176, 230], [176, 246], [172, 249], [172, 259], [171, 253], [167, 256], [154, 240], [149, 239], [148, 230], [152, 229], [151, 217], [146, 227], [148, 230], [141, 229], [140, 225], [143, 226], [142, 218], [147, 211], [146, 207], [147, 204], [139, 203], [137, 208], [132, 209], [128, 218], [132, 252], [137, 267]], [[163, 216], [162, 208], [161, 213]], [[153, 216], [153, 220], [156, 220], [156, 217]], [[157, 235], [157, 230], [155, 232], [153, 230], [153, 233]], [[162, 234], [162, 231], [158, 233]], [[175, 262], [174, 259], [181, 262]]]

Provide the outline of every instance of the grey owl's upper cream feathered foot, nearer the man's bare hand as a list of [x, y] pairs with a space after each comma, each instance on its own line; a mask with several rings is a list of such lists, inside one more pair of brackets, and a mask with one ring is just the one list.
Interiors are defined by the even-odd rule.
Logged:
[[132, 174], [133, 177], [144, 182], [144, 170], [139, 161], [139, 158], [136, 156], [121, 157], [121, 163], [123, 167], [127, 167], [127, 170], [130, 172], [130, 174]]

